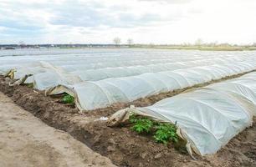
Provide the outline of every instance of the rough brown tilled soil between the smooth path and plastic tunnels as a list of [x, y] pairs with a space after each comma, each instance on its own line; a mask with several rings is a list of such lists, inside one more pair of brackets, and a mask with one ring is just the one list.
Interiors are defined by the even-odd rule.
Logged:
[[105, 121], [97, 120], [131, 104], [141, 107], [154, 104], [166, 97], [180, 94], [185, 90], [197, 89], [209, 83], [198, 84], [190, 89], [158, 94], [129, 104], [114, 104], [109, 108], [97, 109], [84, 114], [79, 114], [77, 109], [56, 103], [58, 99], [45, 97], [37, 90], [25, 86], [9, 87], [6, 78], [0, 78], [0, 91], [46, 124], [68, 132], [91, 149], [110, 158], [118, 166], [256, 166], [256, 119], [251, 128], [238, 134], [218, 154], [197, 157], [197, 160], [191, 159], [183, 150], [176, 149], [177, 145], [156, 144], [150, 137], [131, 132], [127, 127], [110, 128], [106, 126]]

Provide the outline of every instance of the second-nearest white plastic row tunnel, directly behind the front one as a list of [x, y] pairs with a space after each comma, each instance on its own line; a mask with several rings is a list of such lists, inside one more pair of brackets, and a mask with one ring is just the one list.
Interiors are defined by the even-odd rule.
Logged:
[[178, 69], [159, 73], [144, 73], [125, 78], [108, 78], [74, 85], [61, 84], [49, 89], [48, 94], [69, 92], [74, 95], [80, 110], [99, 109], [115, 103], [127, 103], [154, 94], [192, 87], [230, 75], [256, 69], [256, 62], [227, 63]]

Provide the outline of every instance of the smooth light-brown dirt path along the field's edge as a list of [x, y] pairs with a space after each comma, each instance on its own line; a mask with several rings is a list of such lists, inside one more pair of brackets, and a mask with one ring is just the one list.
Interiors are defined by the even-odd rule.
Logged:
[[44, 124], [0, 93], [0, 166], [114, 166], [71, 135]]

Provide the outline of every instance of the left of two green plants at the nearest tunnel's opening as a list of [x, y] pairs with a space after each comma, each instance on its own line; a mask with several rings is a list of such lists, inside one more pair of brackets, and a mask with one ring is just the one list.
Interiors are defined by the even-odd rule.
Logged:
[[134, 124], [131, 129], [137, 133], [149, 133], [153, 127], [153, 121], [147, 118], [136, 118], [135, 114], [131, 114], [130, 122]]

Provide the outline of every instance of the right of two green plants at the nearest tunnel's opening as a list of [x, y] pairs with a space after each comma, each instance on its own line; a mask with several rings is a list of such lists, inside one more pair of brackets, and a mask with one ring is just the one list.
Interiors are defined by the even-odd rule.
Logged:
[[157, 143], [167, 144], [170, 140], [178, 141], [176, 124], [158, 124], [156, 125], [156, 134], [154, 138]]

